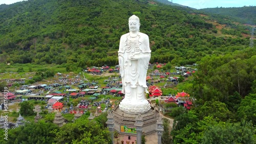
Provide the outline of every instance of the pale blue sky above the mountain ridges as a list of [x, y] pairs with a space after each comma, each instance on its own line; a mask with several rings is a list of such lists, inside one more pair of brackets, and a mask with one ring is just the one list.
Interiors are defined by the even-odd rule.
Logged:
[[[13, 4], [24, 0], [0, 0], [1, 4]], [[26, 0], [27, 1], [27, 0]], [[53, 0], [54, 1], [54, 0]], [[172, 2], [172, 0], [168, 0]], [[256, 6], [255, 0], [173, 0], [173, 3], [188, 6], [196, 9], [204, 8], [229, 8], [229, 7], [243, 7], [243, 6]]]

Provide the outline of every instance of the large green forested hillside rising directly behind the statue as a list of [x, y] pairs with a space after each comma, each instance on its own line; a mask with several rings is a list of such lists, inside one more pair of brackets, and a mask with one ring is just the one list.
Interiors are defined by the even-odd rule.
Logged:
[[150, 37], [152, 63], [192, 64], [242, 50], [251, 29], [146, 0], [29, 0], [0, 8], [1, 62], [65, 63], [73, 69], [117, 64], [119, 38], [129, 32], [133, 14]]

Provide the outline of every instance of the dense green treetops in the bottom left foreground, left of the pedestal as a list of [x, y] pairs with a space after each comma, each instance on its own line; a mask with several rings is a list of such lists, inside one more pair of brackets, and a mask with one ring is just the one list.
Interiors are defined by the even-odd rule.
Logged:
[[8, 140], [4, 139], [4, 131], [1, 131], [0, 143], [111, 143], [108, 128], [101, 127], [94, 120], [89, 121], [88, 115], [60, 128], [52, 122], [46, 122], [47, 115], [38, 123], [27, 123], [25, 126], [9, 129]]

